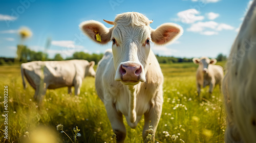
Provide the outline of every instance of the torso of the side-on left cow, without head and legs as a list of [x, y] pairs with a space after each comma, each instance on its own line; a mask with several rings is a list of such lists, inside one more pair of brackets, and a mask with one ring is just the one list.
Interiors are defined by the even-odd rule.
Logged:
[[75, 77], [84, 78], [85, 60], [33, 61], [23, 64], [27, 81], [33, 88], [44, 79], [49, 89], [73, 86]]

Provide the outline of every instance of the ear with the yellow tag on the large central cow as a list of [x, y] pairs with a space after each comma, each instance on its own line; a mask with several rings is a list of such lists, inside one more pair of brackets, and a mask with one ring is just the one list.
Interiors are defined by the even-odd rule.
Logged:
[[112, 28], [106, 28], [101, 22], [84, 21], [79, 27], [84, 34], [97, 43], [106, 44], [111, 40]]

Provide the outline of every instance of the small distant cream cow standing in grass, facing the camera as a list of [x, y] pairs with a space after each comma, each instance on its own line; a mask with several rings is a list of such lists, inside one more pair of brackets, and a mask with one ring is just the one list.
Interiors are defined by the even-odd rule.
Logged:
[[215, 85], [219, 84], [221, 88], [221, 82], [224, 76], [223, 67], [215, 65], [216, 59], [209, 59], [206, 57], [193, 58], [195, 64], [199, 64], [197, 68], [197, 93], [200, 96], [201, 86], [203, 88], [209, 85], [209, 93], [212, 93]]

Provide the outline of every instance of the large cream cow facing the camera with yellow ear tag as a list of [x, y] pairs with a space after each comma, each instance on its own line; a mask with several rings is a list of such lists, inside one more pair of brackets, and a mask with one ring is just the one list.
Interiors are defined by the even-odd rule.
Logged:
[[163, 75], [150, 48], [151, 40], [166, 44], [180, 37], [183, 29], [174, 23], [164, 23], [154, 30], [150, 27], [153, 20], [137, 12], [118, 14], [114, 21], [104, 21], [114, 26], [106, 28], [94, 20], [80, 24], [93, 41], [112, 41], [112, 51], [105, 52], [96, 71], [98, 96], [105, 105], [117, 142], [124, 142], [126, 136], [123, 115], [131, 128], [136, 128], [144, 115], [145, 140], [148, 125], [156, 131], [163, 104]]

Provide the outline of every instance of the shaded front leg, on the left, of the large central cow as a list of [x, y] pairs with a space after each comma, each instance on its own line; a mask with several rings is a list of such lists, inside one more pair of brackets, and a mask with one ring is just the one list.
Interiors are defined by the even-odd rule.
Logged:
[[124, 142], [124, 139], [126, 136], [126, 129], [123, 124], [123, 115], [121, 113], [117, 113], [115, 105], [113, 105], [112, 102], [106, 103], [105, 108], [113, 129], [113, 132], [116, 134], [116, 141]]

